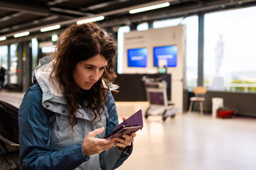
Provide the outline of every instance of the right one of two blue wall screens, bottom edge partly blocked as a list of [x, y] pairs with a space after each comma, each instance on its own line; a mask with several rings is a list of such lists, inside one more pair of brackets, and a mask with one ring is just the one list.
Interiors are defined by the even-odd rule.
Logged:
[[166, 60], [166, 67], [176, 67], [177, 53], [177, 45], [154, 47], [154, 67], [159, 67], [159, 60]]

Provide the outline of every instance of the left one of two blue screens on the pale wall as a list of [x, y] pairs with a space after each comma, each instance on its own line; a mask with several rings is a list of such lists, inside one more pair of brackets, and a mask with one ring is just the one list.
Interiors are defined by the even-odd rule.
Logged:
[[127, 50], [128, 67], [146, 67], [147, 49], [146, 47]]

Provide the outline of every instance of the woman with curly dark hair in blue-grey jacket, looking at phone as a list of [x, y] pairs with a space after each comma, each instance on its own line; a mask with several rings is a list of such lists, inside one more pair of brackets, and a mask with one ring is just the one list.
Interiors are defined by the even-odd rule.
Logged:
[[22, 169], [116, 169], [129, 157], [136, 133], [103, 139], [118, 125], [116, 54], [114, 38], [94, 23], [60, 35], [19, 109]]

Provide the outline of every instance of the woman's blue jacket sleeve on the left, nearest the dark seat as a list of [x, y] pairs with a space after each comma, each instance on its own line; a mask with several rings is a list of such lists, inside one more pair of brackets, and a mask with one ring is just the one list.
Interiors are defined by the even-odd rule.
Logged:
[[38, 84], [28, 89], [18, 112], [19, 144], [22, 169], [75, 169], [88, 159], [82, 153], [82, 142], [53, 152], [47, 143], [50, 122], [41, 104]]

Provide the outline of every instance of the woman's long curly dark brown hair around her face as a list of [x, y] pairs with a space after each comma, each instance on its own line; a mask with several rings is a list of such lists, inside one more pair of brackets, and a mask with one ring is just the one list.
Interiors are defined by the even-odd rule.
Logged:
[[[75, 84], [73, 71], [78, 62], [88, 60], [95, 55], [105, 57], [107, 68], [92, 88], [85, 91]], [[95, 23], [70, 26], [58, 38], [58, 45], [52, 58], [54, 62], [50, 80], [53, 82], [53, 79], [57, 79], [60, 83], [57, 88], [60, 88], [68, 102], [69, 121], [72, 126], [78, 123], [75, 114], [80, 105], [92, 110], [92, 114], [95, 115], [92, 121], [101, 118], [107, 91], [117, 77], [113, 69], [116, 55], [116, 40], [111, 33], [106, 33]], [[84, 99], [86, 104], [83, 102]]]

